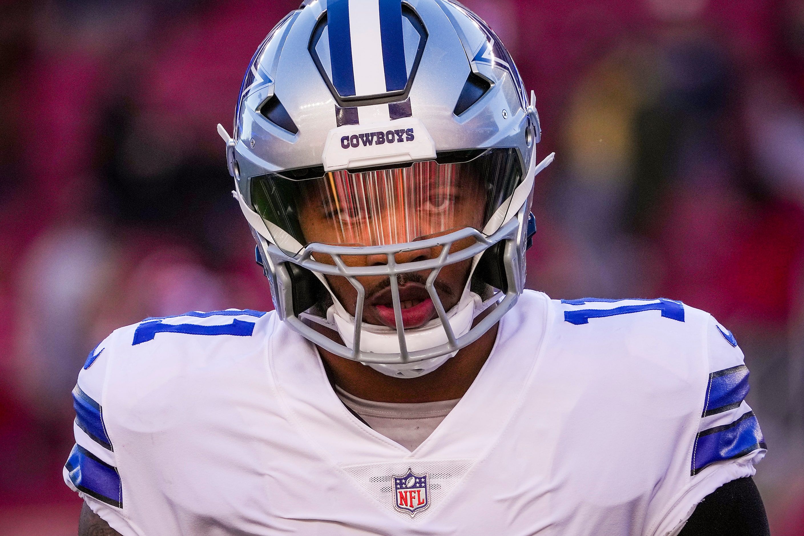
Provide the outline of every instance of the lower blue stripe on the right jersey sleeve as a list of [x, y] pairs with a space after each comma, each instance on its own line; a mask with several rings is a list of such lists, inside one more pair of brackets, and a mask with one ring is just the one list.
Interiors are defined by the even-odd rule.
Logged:
[[692, 451], [692, 474], [716, 461], [739, 458], [757, 448], [766, 448], [765, 438], [757, 417], [749, 411], [731, 424], [698, 433]]

